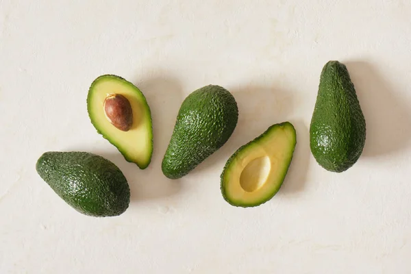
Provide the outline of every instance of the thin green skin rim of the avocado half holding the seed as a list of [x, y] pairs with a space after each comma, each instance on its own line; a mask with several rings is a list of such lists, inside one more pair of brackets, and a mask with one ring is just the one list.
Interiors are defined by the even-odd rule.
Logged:
[[[108, 78], [116, 79], [117, 81], [123, 82], [123, 84], [126, 84], [127, 86], [129, 86], [130, 88], [132, 88], [133, 90], [138, 92], [142, 97], [142, 105], [145, 106], [145, 111], [147, 112], [147, 115], [150, 118], [149, 123], [147, 124], [147, 126], [150, 127], [150, 133], [151, 133], [151, 136], [150, 136], [151, 151], [149, 152], [150, 153], [150, 158], [149, 158], [149, 161], [146, 162], [146, 163], [134, 162], [134, 160], [127, 155], [127, 151], [125, 151], [123, 149], [120, 149], [118, 143], [114, 142], [114, 140], [112, 140], [112, 138], [110, 138], [110, 136], [107, 136], [107, 135], [103, 134], [103, 132], [100, 130], [99, 124], [96, 121], [94, 121], [90, 116], [90, 110], [92, 108], [92, 105], [90, 103], [90, 96], [92, 95], [94, 87], [97, 84], [97, 82], [103, 81], [104, 79], [108, 79]], [[132, 162], [132, 163], [136, 164], [139, 169], [147, 169], [147, 167], [151, 163], [151, 157], [153, 155], [153, 120], [151, 118], [151, 109], [150, 109], [149, 103], [147, 103], [147, 99], [146, 99], [145, 95], [141, 92], [141, 90], [139, 88], [137, 88], [136, 86], [134, 86], [134, 84], [132, 84], [132, 82], [128, 82], [126, 79], [124, 79], [121, 76], [113, 75], [113, 74], [105, 74], [105, 75], [101, 75], [101, 76], [97, 77], [92, 82], [92, 84], [90, 85], [90, 88], [88, 89], [88, 95], [87, 95], [87, 101], [86, 102], [87, 102], [88, 118], [90, 119], [90, 122], [95, 127], [95, 129], [97, 129], [97, 133], [100, 134], [101, 136], [103, 136], [103, 138], [105, 138], [105, 140], [108, 140], [108, 142], [110, 142], [110, 144], [114, 145], [114, 147], [116, 147], [116, 149], [118, 149], [120, 151], [121, 155], [123, 155], [123, 157], [125, 158], [125, 160], [127, 162]]]

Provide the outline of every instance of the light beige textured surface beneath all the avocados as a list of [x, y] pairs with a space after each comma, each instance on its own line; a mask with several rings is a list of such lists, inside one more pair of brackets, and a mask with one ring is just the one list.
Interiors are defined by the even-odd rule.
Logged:
[[[0, 273], [411, 273], [409, 1], [0, 0]], [[347, 64], [367, 139], [345, 173], [316, 164], [308, 129], [325, 62]], [[92, 127], [88, 86], [134, 82], [153, 114], [140, 171]], [[227, 144], [195, 171], [160, 163], [182, 100], [219, 84], [238, 102]], [[273, 123], [297, 128], [283, 187], [258, 208], [229, 206], [219, 176]], [[75, 212], [38, 177], [45, 151], [117, 164], [125, 214]]]

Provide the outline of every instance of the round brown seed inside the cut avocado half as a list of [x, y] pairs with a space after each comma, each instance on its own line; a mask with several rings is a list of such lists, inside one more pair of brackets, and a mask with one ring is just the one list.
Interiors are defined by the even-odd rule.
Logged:
[[104, 100], [104, 113], [108, 121], [123, 132], [133, 125], [133, 110], [130, 102], [123, 95], [108, 95]]

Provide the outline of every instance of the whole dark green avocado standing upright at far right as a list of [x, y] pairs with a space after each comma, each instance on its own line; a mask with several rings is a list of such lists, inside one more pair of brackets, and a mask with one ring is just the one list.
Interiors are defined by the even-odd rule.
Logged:
[[329, 61], [323, 67], [310, 125], [312, 155], [327, 171], [340, 173], [360, 158], [366, 123], [347, 67]]

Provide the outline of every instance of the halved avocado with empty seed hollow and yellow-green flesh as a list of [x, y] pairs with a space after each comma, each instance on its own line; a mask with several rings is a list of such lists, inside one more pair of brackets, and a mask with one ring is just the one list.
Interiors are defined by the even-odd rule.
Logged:
[[255, 207], [269, 201], [282, 186], [297, 136], [290, 122], [271, 125], [240, 147], [221, 173], [221, 193], [232, 206]]

